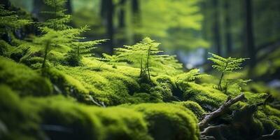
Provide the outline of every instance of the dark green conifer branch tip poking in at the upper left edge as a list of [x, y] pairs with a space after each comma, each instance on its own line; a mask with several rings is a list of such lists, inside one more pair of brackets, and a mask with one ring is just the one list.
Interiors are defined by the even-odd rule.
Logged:
[[0, 5], [0, 34], [19, 29], [25, 25], [30, 25], [31, 20], [20, 19], [20, 17], [13, 11], [6, 10]]

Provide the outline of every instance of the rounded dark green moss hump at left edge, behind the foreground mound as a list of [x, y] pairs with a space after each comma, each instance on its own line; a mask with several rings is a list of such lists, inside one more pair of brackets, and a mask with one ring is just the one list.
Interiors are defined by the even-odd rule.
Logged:
[[22, 96], [45, 96], [52, 94], [52, 84], [23, 64], [0, 57], [0, 80]]

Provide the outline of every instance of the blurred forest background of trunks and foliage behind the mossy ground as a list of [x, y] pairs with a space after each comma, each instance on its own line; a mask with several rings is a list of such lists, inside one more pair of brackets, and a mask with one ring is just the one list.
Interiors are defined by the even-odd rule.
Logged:
[[[43, 0], [11, 0], [44, 21]], [[73, 27], [88, 25], [87, 39], [108, 38], [96, 55], [149, 36], [186, 69], [207, 71], [208, 52], [249, 57], [251, 78], [280, 85], [279, 0], [68, 0]], [[275, 82], [276, 81], [276, 82]]]

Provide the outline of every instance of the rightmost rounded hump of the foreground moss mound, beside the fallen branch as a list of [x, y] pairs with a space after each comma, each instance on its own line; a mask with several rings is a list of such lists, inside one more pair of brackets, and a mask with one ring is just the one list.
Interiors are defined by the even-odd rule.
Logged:
[[195, 115], [182, 106], [172, 104], [139, 104], [134, 109], [144, 113], [151, 136], [157, 140], [198, 139]]

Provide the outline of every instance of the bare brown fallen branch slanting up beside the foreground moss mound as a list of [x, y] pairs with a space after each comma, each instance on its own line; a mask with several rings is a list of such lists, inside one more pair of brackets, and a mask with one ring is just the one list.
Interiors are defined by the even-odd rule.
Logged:
[[198, 123], [200, 130], [203, 130], [205, 127], [209, 125], [209, 122], [214, 118], [221, 116], [232, 104], [239, 102], [242, 99], [246, 99], [244, 93], [239, 94], [239, 96], [235, 97], [234, 99], [228, 98], [227, 101], [219, 107], [216, 111], [209, 113], [207, 116], [203, 118], [203, 120]]

